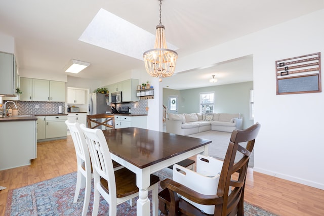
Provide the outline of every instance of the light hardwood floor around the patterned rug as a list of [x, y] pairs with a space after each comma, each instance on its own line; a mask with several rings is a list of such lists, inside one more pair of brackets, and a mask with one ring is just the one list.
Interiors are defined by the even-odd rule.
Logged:
[[[257, 145], [257, 144], [256, 144]], [[0, 215], [5, 215], [8, 191], [76, 171], [70, 136], [37, 144], [31, 165], [0, 171]], [[278, 215], [324, 215], [324, 190], [253, 172], [249, 169], [245, 201]]]

